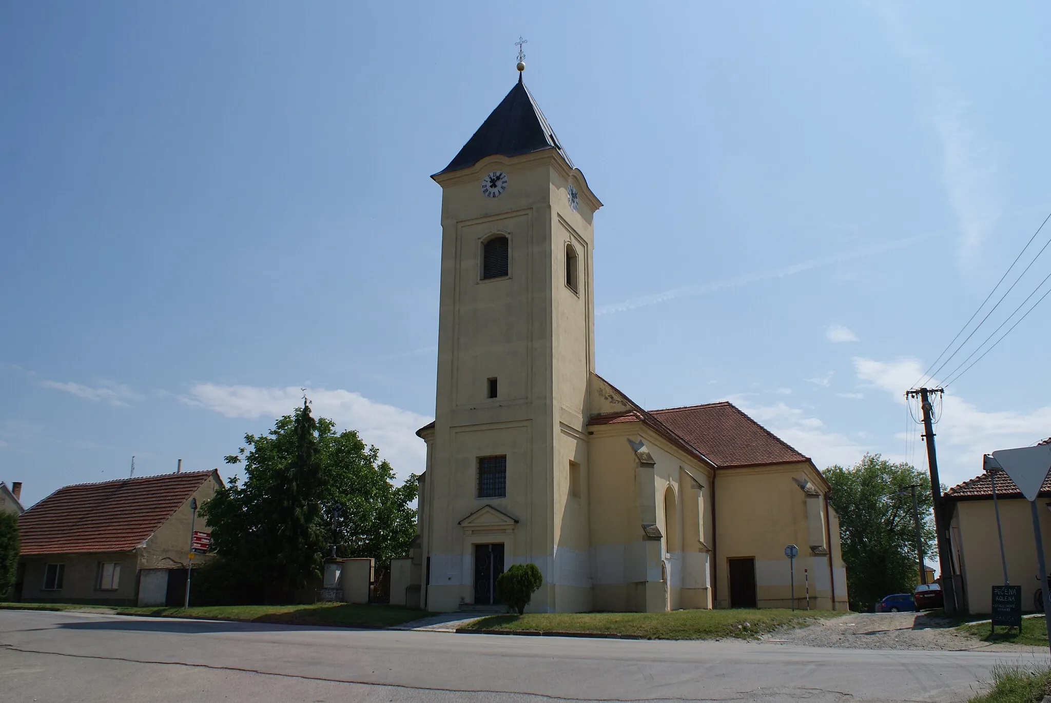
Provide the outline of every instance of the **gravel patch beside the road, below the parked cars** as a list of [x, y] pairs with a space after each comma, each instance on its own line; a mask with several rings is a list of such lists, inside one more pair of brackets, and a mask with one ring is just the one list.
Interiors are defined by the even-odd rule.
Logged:
[[[1030, 652], [1037, 647], [990, 644], [956, 630], [952, 621], [925, 613], [858, 613], [820, 620], [799, 629], [776, 630], [765, 642], [811, 647], [856, 649], [981, 649], [983, 652]], [[1043, 647], [1039, 647], [1044, 652]]]

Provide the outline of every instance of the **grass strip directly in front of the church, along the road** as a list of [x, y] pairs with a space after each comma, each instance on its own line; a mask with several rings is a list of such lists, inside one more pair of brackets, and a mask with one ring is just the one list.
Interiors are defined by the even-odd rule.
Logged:
[[527, 613], [494, 615], [465, 629], [522, 629], [543, 633], [631, 635], [651, 640], [749, 639], [782, 626], [803, 626], [816, 618], [846, 615], [842, 611], [738, 608], [672, 613]]

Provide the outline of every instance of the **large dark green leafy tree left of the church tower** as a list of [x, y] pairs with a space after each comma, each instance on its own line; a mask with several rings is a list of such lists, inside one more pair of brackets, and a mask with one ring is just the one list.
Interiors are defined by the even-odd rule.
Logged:
[[231, 602], [294, 598], [321, 576], [333, 530], [339, 556], [374, 557], [380, 570], [408, 554], [416, 476], [393, 485], [390, 463], [356, 432], [315, 420], [305, 399], [266, 435], [246, 434], [245, 444], [226, 457], [244, 462], [244, 482], [231, 478], [203, 508], [219, 560], [202, 577], [222, 581], [210, 594], [225, 592]]

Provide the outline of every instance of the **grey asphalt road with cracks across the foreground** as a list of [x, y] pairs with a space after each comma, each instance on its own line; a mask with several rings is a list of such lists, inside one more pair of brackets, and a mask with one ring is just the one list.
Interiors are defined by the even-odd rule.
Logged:
[[996, 662], [1048, 663], [0, 611], [4, 701], [966, 701]]

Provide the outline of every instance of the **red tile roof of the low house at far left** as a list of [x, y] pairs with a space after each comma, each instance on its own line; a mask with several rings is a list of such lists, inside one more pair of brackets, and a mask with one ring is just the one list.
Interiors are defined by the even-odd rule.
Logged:
[[66, 485], [18, 518], [22, 554], [130, 552], [212, 475], [220, 480], [193, 471]]

